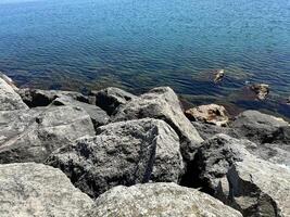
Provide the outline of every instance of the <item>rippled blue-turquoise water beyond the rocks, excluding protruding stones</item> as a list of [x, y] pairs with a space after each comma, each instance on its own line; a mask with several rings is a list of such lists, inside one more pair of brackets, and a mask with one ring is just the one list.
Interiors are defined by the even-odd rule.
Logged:
[[[0, 71], [22, 87], [171, 86], [189, 104], [290, 117], [290, 1], [1, 0]], [[269, 99], [245, 82], [269, 84]]]

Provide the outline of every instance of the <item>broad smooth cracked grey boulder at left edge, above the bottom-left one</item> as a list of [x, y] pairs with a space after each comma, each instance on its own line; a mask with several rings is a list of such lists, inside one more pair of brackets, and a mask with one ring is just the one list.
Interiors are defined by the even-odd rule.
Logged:
[[90, 116], [79, 107], [0, 112], [0, 163], [40, 163], [55, 149], [93, 135]]

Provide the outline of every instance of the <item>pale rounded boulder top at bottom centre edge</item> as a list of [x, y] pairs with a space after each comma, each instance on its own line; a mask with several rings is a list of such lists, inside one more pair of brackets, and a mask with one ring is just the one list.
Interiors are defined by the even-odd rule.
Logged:
[[118, 186], [99, 196], [84, 217], [241, 217], [237, 210], [196, 189], [176, 183]]

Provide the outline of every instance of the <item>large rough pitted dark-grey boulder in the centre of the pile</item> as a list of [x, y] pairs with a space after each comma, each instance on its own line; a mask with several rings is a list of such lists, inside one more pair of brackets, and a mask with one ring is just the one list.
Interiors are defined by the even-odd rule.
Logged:
[[98, 133], [59, 149], [47, 164], [61, 168], [92, 197], [118, 184], [179, 181], [184, 173], [179, 139], [163, 120], [113, 123]]

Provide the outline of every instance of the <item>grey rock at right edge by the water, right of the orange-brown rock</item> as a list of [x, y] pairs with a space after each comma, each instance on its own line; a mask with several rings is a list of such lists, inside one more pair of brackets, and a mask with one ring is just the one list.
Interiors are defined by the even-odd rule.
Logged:
[[241, 113], [231, 127], [240, 136], [257, 143], [285, 143], [290, 145], [290, 125], [281, 118], [257, 111]]

